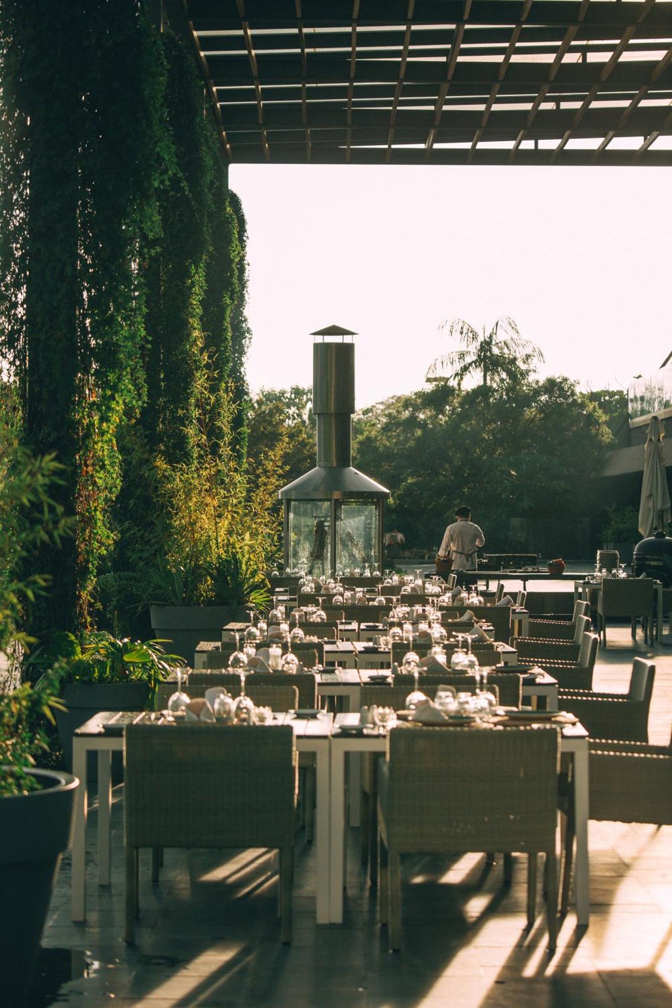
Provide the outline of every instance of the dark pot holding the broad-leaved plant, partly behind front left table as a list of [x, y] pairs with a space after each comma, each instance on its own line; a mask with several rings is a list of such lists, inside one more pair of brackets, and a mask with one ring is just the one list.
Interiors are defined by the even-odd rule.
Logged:
[[[144, 711], [150, 689], [146, 682], [70, 682], [62, 700], [67, 711], [54, 711], [66, 769], [73, 771], [73, 734], [99, 711]], [[96, 756], [89, 753], [87, 773], [90, 780], [98, 779]], [[122, 779], [121, 753], [113, 753], [113, 780]]]

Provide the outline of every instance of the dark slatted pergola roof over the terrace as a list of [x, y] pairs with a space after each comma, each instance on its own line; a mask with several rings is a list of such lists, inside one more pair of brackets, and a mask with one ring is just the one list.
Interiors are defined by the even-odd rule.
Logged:
[[669, 0], [182, 7], [234, 162], [672, 163]]

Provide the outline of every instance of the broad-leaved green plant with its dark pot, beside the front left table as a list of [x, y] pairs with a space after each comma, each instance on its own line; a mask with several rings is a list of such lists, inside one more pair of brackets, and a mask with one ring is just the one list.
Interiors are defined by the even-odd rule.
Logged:
[[[99, 711], [143, 711], [156, 684], [185, 661], [167, 654], [160, 640], [117, 640], [106, 631], [54, 634], [38, 648], [27, 667], [48, 670], [61, 683], [61, 703], [54, 711], [64, 761], [73, 765], [73, 734]], [[113, 769], [119, 777], [120, 761]], [[95, 767], [91, 773], [95, 779]]]

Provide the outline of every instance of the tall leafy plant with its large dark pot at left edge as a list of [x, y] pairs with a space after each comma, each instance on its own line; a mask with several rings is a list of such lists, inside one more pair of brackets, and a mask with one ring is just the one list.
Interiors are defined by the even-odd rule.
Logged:
[[61, 855], [70, 845], [78, 780], [35, 765], [46, 754], [58, 683], [21, 682], [33, 639], [26, 610], [48, 579], [26, 575], [40, 544], [59, 546], [72, 522], [50, 495], [61, 480], [53, 456], [34, 458], [19, 442], [11, 390], [0, 404], [0, 1000], [22, 1006], [30, 989]]

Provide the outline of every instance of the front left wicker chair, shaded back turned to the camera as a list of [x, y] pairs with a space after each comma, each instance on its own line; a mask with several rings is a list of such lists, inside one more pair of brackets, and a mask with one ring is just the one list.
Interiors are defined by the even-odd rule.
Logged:
[[288, 726], [134, 725], [126, 730], [126, 932], [138, 915], [140, 848], [277, 848], [282, 940], [292, 939], [297, 800]]

